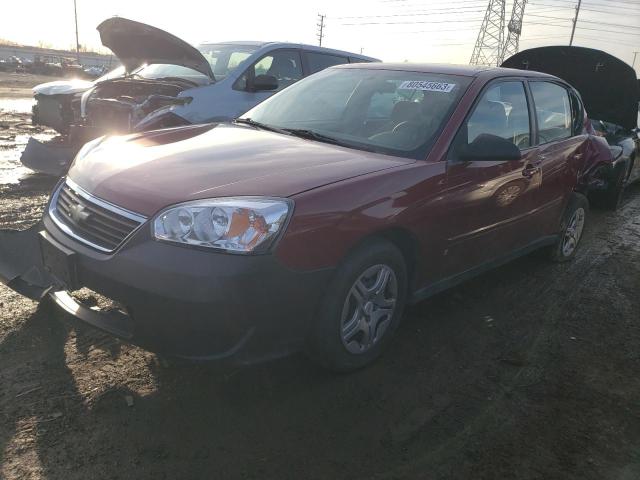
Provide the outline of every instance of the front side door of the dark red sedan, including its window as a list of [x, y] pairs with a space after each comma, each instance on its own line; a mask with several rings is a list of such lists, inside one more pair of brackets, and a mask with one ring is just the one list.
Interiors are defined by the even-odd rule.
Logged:
[[[481, 134], [512, 141], [517, 161], [461, 161], [456, 151]], [[521, 80], [491, 83], [463, 123], [447, 160], [449, 275], [508, 255], [536, 238], [528, 214], [540, 185], [533, 122]]]

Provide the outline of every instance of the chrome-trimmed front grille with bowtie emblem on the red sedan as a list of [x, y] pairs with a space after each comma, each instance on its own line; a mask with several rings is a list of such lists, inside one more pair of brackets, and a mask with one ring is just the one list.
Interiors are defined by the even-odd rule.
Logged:
[[112, 252], [146, 218], [85, 192], [67, 180], [52, 202], [52, 217], [62, 230], [98, 250]]

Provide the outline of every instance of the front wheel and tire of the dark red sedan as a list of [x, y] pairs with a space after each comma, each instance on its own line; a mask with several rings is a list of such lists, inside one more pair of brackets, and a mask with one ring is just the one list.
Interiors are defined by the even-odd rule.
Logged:
[[373, 362], [393, 336], [407, 297], [402, 253], [386, 240], [367, 242], [338, 268], [309, 338], [310, 357], [350, 372]]

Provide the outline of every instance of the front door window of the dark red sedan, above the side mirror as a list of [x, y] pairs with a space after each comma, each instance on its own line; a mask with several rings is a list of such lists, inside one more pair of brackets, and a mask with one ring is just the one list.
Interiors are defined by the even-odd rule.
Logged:
[[519, 148], [531, 146], [529, 107], [522, 82], [501, 82], [490, 87], [459, 135], [465, 133], [467, 138], [458, 140], [459, 144], [469, 144], [479, 135], [491, 134]]

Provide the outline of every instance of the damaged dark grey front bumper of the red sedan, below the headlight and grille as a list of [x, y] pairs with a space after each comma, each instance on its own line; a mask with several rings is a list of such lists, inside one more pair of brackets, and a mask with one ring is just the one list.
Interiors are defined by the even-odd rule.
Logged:
[[[47, 260], [42, 265], [51, 288], [38, 292], [94, 327], [151, 351], [194, 360], [253, 363], [299, 349], [332, 272], [293, 271], [274, 255], [158, 242], [148, 224], [113, 254], [73, 240], [48, 216], [41, 231], [54, 247], [72, 252], [72, 289], [86, 287], [124, 311], [102, 313], [79, 304], [61, 288], [66, 285], [59, 267]], [[22, 283], [14, 278], [8, 284]]]

